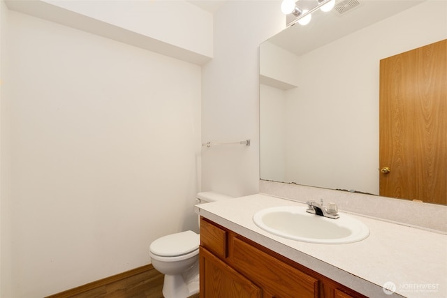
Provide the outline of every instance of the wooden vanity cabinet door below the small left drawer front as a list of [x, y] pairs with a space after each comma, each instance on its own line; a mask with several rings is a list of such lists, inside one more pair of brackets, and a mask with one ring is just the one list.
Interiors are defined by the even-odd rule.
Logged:
[[200, 247], [200, 298], [261, 298], [254, 283]]

